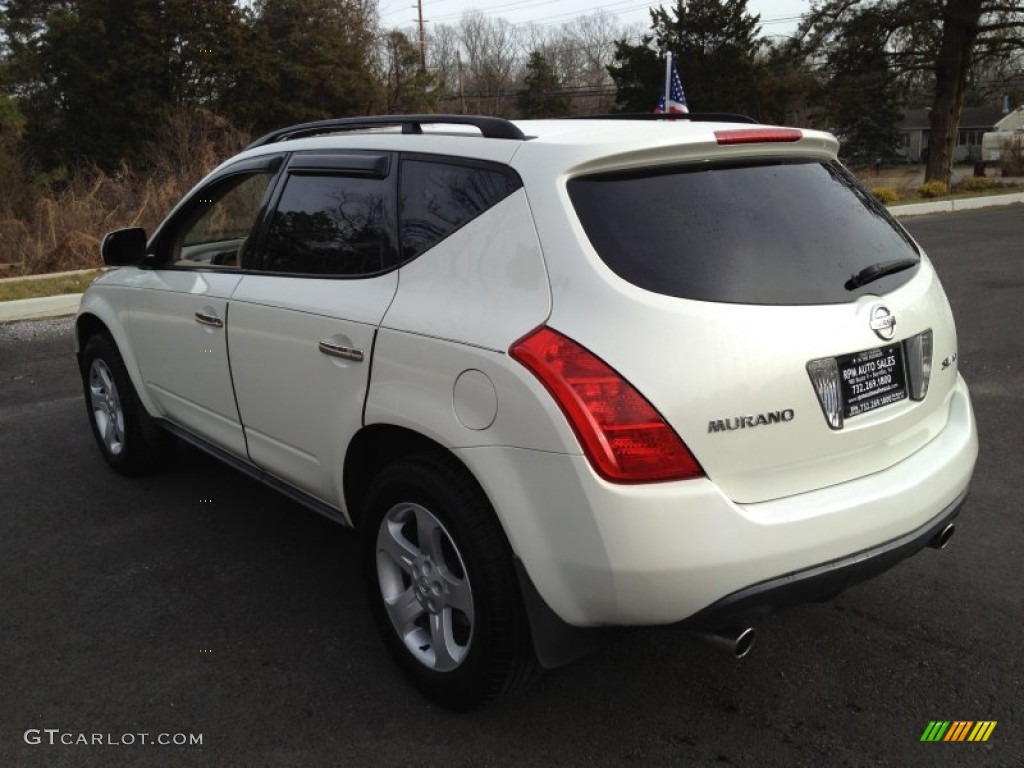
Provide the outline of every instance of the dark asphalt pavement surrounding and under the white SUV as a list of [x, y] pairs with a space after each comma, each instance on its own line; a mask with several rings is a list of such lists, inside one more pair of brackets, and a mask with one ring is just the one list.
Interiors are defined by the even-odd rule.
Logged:
[[[0, 766], [1024, 764], [1024, 209], [904, 223], [981, 434], [950, 547], [766, 618], [739, 662], [629, 632], [467, 715], [385, 655], [352, 535], [193, 450], [113, 474], [70, 319], [0, 326]], [[922, 742], [935, 720], [997, 725]]]

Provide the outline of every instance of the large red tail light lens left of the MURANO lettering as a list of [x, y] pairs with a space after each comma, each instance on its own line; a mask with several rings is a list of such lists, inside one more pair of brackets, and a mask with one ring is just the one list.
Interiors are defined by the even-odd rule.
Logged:
[[562, 409], [594, 469], [612, 482], [703, 475], [693, 455], [632, 384], [557, 331], [540, 328], [509, 353]]

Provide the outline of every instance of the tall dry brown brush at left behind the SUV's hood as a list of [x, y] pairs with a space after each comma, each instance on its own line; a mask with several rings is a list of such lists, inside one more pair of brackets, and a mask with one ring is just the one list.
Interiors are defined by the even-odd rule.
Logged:
[[175, 203], [247, 137], [203, 111], [182, 112], [154, 136], [145, 176], [83, 167], [39, 198], [28, 220], [0, 218], [0, 276], [101, 266], [99, 241], [123, 226], [153, 232]]

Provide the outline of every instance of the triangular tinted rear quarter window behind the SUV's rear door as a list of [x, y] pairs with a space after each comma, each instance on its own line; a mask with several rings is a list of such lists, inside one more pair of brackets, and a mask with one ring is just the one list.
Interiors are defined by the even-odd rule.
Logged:
[[508, 168], [419, 159], [402, 161], [400, 183], [402, 261], [430, 250], [522, 186]]

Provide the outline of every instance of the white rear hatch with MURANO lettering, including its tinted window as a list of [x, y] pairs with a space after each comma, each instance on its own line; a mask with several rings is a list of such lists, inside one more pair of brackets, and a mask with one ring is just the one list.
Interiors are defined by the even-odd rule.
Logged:
[[[734, 501], [881, 471], [942, 429], [945, 295], [837, 161], [775, 150], [565, 189], [602, 287], [555, 282], [552, 326], [645, 395]], [[933, 374], [933, 359], [949, 365]]]

